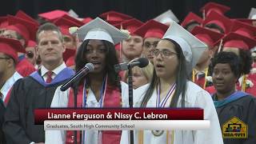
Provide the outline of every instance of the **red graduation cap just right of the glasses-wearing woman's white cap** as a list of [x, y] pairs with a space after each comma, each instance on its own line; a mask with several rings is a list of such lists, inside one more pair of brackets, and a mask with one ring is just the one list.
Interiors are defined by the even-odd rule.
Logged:
[[213, 48], [215, 43], [224, 36], [224, 34], [217, 33], [213, 30], [208, 30], [201, 26], [195, 26], [191, 31], [191, 34], [202, 42], [205, 42], [208, 46], [210, 46], [210, 48]]

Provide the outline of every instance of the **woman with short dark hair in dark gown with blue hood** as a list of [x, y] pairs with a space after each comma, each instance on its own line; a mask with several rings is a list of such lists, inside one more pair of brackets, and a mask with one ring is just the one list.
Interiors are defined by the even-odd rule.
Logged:
[[256, 143], [256, 98], [236, 90], [236, 82], [243, 72], [242, 61], [233, 52], [223, 51], [214, 57], [212, 66], [217, 90], [213, 99], [224, 143]]

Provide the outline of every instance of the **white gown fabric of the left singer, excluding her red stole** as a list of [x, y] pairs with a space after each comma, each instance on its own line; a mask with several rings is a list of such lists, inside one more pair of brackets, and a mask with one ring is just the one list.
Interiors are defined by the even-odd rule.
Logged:
[[[128, 107], [128, 85], [121, 82], [122, 87], [122, 106]], [[68, 103], [68, 95], [70, 89], [62, 92], [60, 86], [54, 93], [54, 98], [50, 107], [66, 107]], [[100, 107], [100, 103], [96, 100], [94, 93], [89, 90], [86, 100], [86, 107]], [[66, 134], [63, 130], [46, 130], [46, 144], [65, 144]], [[86, 130], [86, 143], [98, 144], [98, 130]], [[121, 143], [121, 142], [120, 142]]]

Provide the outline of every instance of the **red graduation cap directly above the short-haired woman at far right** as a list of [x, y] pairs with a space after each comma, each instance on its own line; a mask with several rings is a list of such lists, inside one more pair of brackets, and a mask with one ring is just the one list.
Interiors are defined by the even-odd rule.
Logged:
[[[218, 42], [220, 43], [221, 40]], [[250, 50], [256, 46], [256, 40], [241, 34], [230, 33], [222, 38], [223, 47], [237, 47], [242, 50]]]

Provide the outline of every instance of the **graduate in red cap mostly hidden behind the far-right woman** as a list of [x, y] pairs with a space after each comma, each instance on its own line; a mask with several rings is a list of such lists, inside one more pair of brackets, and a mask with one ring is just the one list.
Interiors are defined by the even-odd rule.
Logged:
[[[248, 94], [256, 95], [256, 79], [253, 74], [250, 74], [253, 60], [251, 58], [250, 49], [256, 46], [256, 41], [252, 38], [248, 38], [238, 33], [227, 34], [222, 38], [223, 51], [233, 52], [237, 54], [242, 62], [241, 77], [238, 78], [237, 90], [244, 91]], [[210, 94], [214, 94], [214, 86], [210, 86], [206, 89]]]

